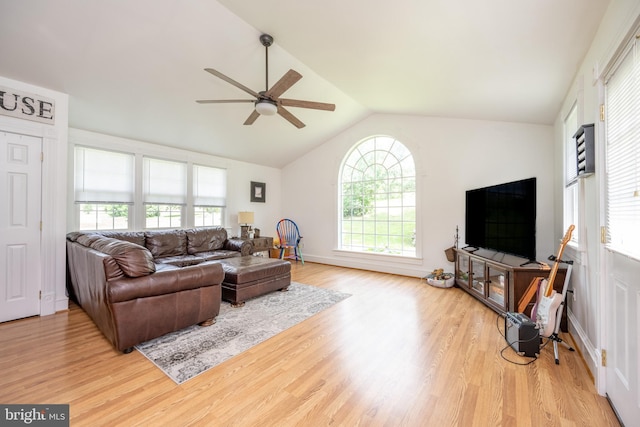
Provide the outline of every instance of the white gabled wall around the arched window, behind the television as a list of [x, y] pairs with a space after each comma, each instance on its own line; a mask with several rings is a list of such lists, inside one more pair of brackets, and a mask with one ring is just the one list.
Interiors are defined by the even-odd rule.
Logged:
[[[337, 251], [337, 180], [344, 156], [357, 142], [389, 135], [412, 152], [417, 167], [418, 259]], [[340, 133], [283, 169], [282, 215], [297, 222], [306, 260], [423, 277], [453, 271], [444, 250], [456, 226], [464, 244], [465, 191], [536, 177], [537, 253], [555, 252], [551, 126], [376, 114]]]

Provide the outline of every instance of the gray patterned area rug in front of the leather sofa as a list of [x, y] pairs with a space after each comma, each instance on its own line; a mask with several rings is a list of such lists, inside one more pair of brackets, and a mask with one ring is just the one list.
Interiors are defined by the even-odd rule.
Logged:
[[191, 326], [136, 346], [178, 384], [279, 334], [350, 295], [291, 282], [232, 308], [223, 301], [212, 326]]

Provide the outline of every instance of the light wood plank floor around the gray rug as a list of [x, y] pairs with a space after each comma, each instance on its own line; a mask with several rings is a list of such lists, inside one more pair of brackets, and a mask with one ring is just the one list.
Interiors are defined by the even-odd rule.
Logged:
[[293, 279], [352, 296], [182, 385], [77, 306], [0, 324], [0, 403], [68, 403], [72, 426], [618, 425], [578, 353], [504, 360], [503, 320], [460, 289], [313, 263]]

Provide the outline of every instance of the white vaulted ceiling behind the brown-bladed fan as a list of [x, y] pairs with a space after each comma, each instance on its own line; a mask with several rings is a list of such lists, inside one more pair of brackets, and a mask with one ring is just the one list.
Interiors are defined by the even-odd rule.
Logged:
[[[552, 124], [609, 0], [0, 0], [0, 76], [69, 94], [70, 126], [283, 167], [372, 113]], [[243, 122], [250, 98], [336, 104]]]

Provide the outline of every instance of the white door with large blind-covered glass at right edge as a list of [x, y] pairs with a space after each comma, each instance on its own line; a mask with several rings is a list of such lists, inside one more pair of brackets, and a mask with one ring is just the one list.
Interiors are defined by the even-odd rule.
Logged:
[[606, 392], [626, 425], [640, 420], [640, 27], [605, 79]]

